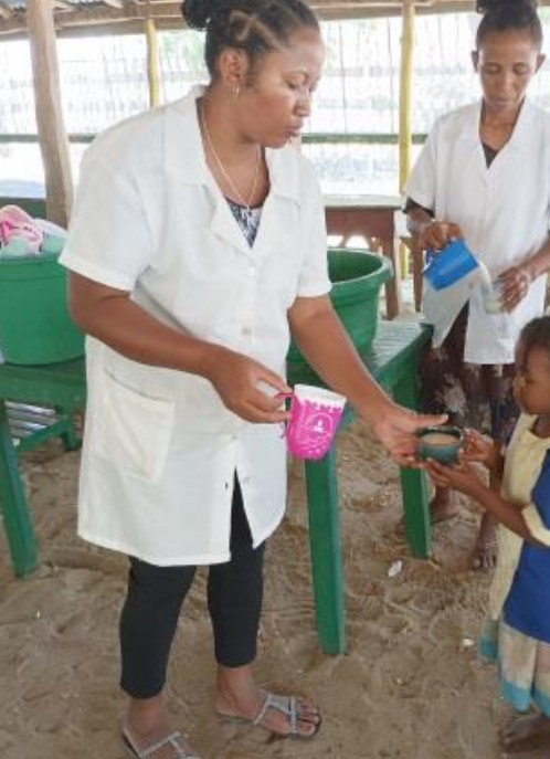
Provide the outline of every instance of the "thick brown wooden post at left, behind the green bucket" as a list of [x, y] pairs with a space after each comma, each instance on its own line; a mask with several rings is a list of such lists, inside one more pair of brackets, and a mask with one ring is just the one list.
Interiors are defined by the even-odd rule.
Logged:
[[73, 204], [68, 138], [61, 106], [52, 0], [28, 0], [34, 99], [46, 186], [46, 215], [66, 226]]

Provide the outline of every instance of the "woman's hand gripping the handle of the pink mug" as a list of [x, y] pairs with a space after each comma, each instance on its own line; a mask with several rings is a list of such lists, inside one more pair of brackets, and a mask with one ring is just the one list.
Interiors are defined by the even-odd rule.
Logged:
[[[214, 386], [224, 405], [247, 422], [276, 424], [289, 413], [282, 408], [290, 388], [274, 371], [247, 356], [213, 346], [203, 373]], [[273, 392], [261, 390], [269, 386]]]

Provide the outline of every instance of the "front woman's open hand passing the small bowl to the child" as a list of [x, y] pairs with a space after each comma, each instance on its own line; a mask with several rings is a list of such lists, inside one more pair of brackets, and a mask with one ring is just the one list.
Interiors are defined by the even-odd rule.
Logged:
[[367, 422], [382, 445], [401, 466], [423, 466], [416, 458], [419, 439], [416, 430], [444, 424], [447, 417], [417, 414], [389, 402], [378, 413], [369, 414]]

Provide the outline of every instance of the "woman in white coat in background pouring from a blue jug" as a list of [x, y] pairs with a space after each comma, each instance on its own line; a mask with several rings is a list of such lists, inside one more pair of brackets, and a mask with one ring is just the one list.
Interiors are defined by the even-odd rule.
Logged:
[[[505, 443], [518, 417], [514, 346], [522, 326], [543, 310], [550, 267], [550, 117], [526, 99], [544, 60], [533, 0], [478, 0], [477, 9], [484, 15], [473, 62], [483, 98], [437, 120], [406, 185], [405, 211], [423, 247], [441, 250], [464, 238], [504, 283], [501, 314], [486, 313], [477, 287], [445, 325], [436, 325], [444, 339], [427, 356], [421, 379], [424, 410], [448, 412], [456, 423]], [[431, 507], [433, 520], [456, 508], [441, 487]], [[495, 559], [485, 514], [474, 566], [490, 567]]]

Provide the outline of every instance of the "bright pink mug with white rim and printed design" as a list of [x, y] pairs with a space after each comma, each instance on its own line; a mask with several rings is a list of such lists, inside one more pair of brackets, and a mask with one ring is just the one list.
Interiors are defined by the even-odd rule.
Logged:
[[288, 451], [298, 458], [322, 458], [332, 445], [345, 405], [346, 398], [331, 390], [296, 384], [286, 428]]

